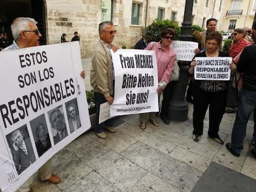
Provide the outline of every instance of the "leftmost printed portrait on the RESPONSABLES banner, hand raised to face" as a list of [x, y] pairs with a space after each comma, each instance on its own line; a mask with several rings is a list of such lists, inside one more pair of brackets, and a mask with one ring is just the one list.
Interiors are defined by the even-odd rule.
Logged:
[[30, 136], [28, 135], [27, 125], [23, 125], [12, 133], [9, 133], [6, 139], [11, 148], [15, 168], [20, 175], [20, 173], [36, 160]]

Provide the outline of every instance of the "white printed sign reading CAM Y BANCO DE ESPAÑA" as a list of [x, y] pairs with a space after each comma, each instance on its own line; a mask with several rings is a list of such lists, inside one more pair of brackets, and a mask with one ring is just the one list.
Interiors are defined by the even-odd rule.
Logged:
[[195, 57], [195, 80], [230, 80], [232, 57]]

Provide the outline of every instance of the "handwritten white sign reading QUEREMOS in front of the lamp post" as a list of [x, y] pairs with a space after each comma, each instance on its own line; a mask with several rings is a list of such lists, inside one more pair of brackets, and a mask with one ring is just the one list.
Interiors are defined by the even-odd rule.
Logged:
[[192, 61], [195, 56], [195, 49], [198, 48], [198, 43], [192, 41], [173, 41], [171, 46], [176, 51], [177, 61]]

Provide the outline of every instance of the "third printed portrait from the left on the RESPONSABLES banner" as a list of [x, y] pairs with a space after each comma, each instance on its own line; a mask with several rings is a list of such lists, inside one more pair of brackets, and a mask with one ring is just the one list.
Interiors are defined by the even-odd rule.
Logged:
[[48, 112], [49, 122], [53, 131], [54, 144], [59, 143], [67, 136], [67, 126], [63, 115], [62, 106]]

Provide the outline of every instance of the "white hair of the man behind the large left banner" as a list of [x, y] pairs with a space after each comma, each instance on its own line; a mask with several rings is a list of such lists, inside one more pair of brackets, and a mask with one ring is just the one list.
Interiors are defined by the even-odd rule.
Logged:
[[14, 40], [19, 40], [20, 38], [20, 31], [23, 30], [30, 30], [29, 23], [35, 23], [35, 19], [32, 19], [30, 17], [17, 17], [11, 25], [12, 29], [12, 36], [14, 37]]

